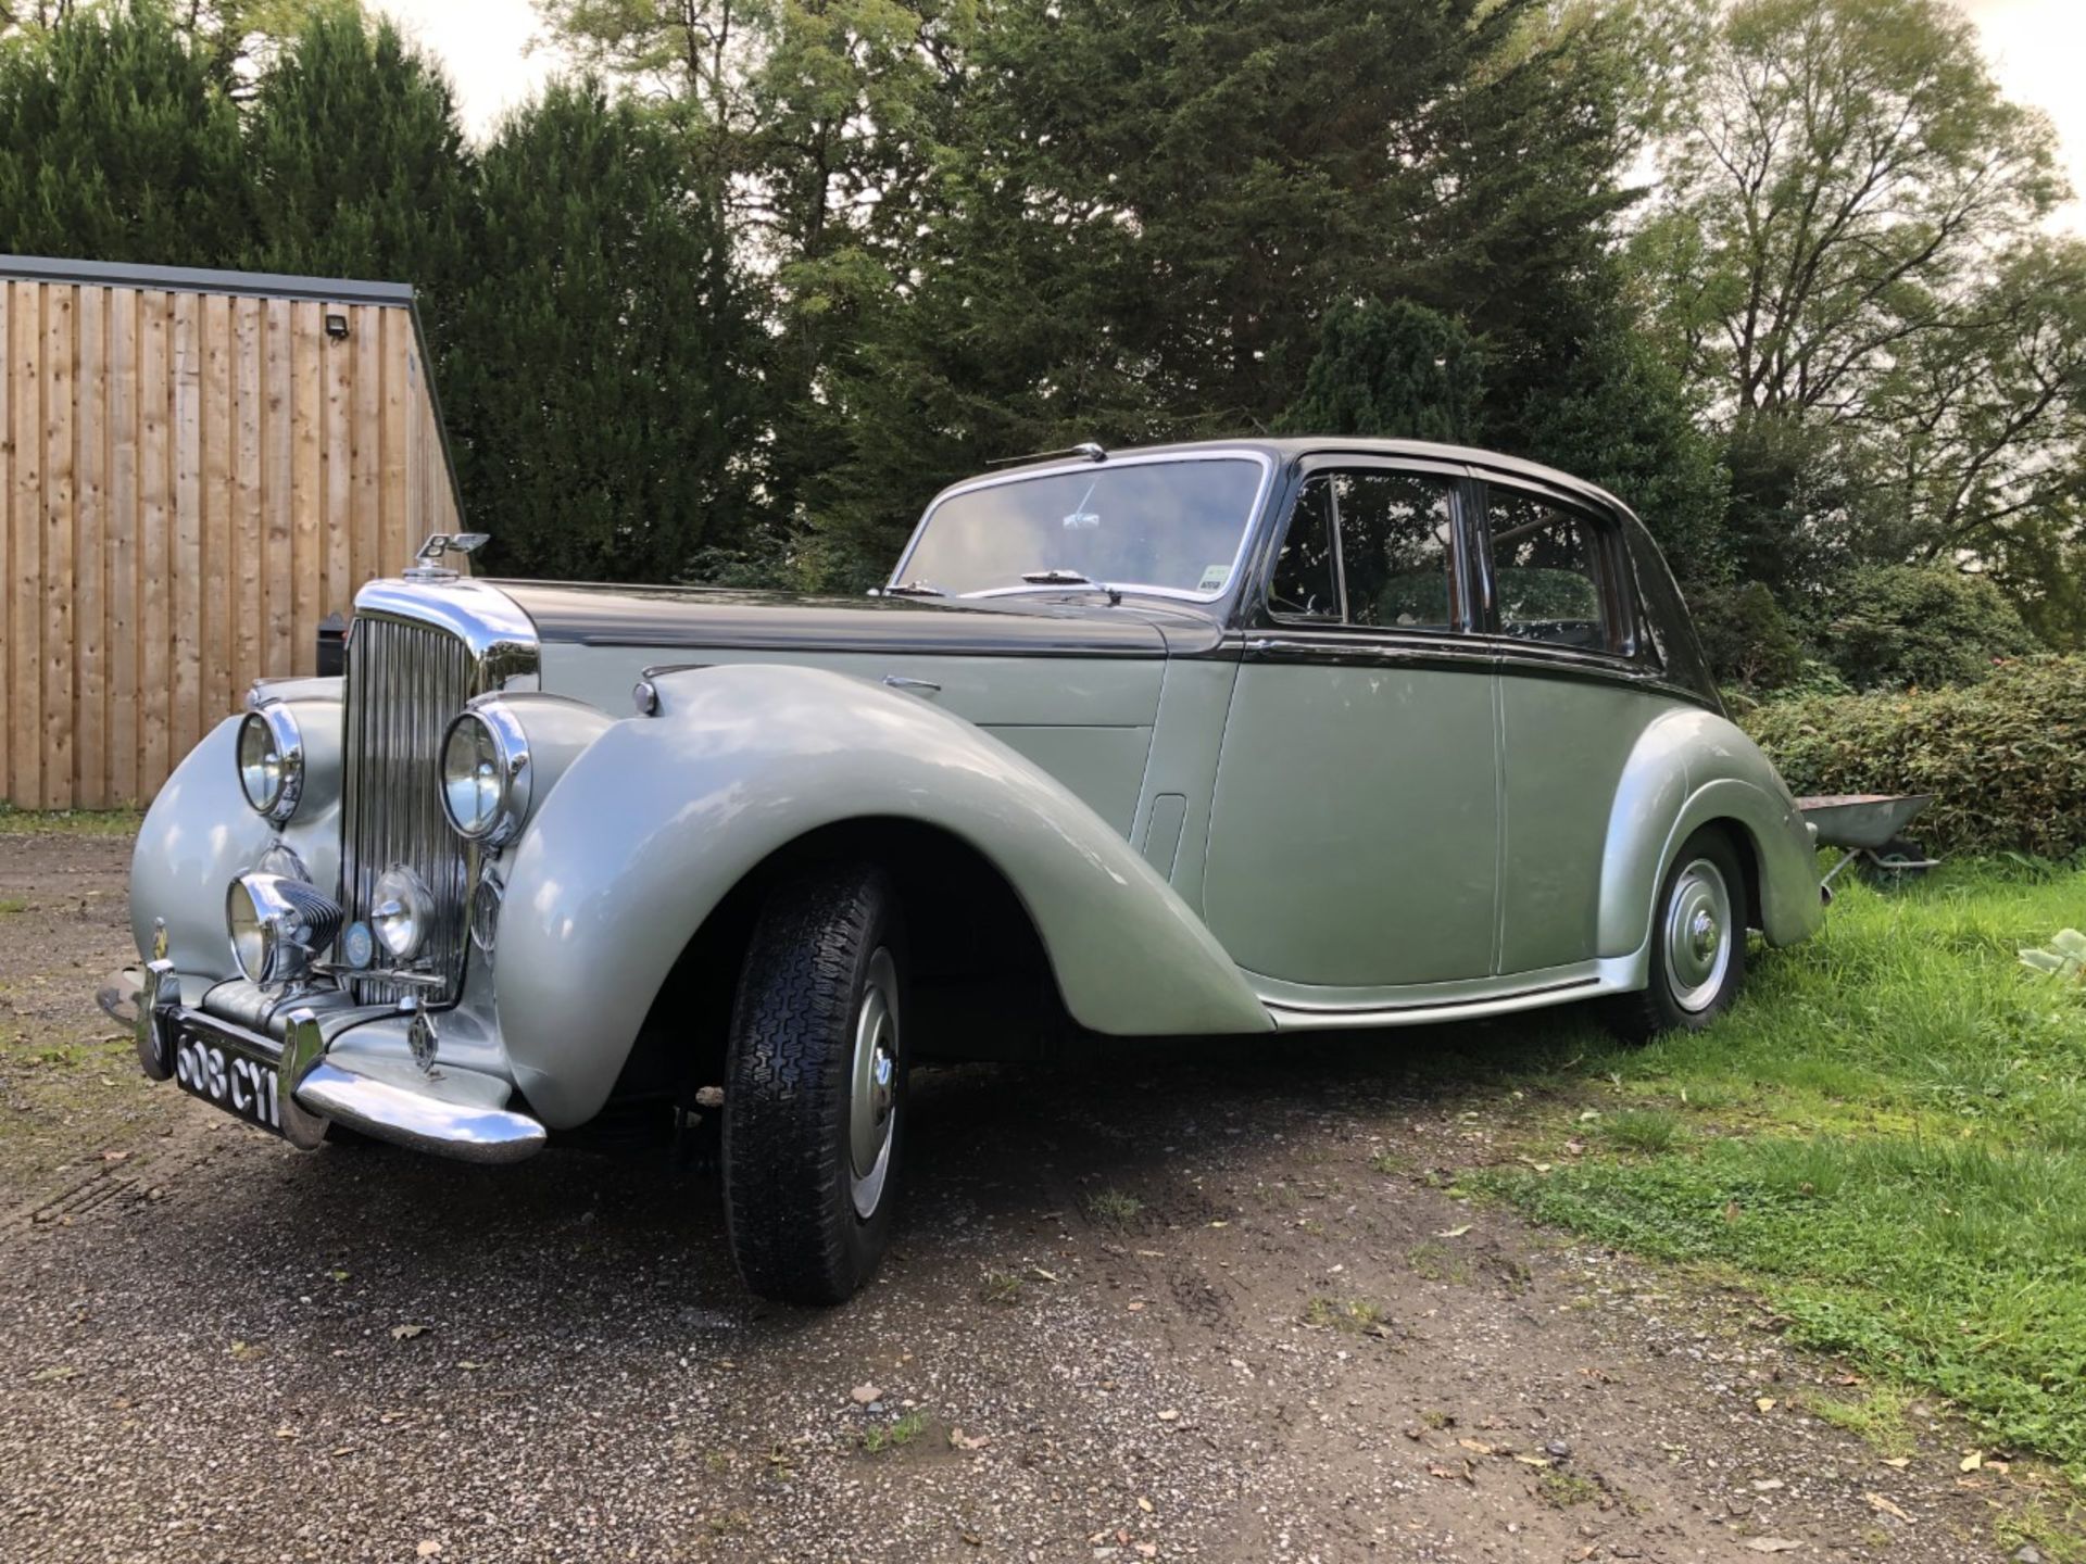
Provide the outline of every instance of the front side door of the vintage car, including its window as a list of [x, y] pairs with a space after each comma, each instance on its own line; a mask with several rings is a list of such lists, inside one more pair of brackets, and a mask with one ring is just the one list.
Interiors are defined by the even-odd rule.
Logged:
[[1306, 467], [1210, 817], [1204, 915], [1247, 972], [1368, 991], [1494, 970], [1496, 680], [1456, 542], [1471, 492], [1448, 465]]

